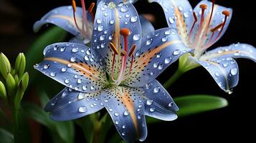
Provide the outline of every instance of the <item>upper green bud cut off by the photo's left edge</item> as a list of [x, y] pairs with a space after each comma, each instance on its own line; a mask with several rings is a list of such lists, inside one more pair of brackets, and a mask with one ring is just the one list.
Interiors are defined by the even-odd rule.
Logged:
[[11, 72], [11, 64], [3, 53], [0, 53], [0, 67], [0, 74], [6, 79], [7, 74]]

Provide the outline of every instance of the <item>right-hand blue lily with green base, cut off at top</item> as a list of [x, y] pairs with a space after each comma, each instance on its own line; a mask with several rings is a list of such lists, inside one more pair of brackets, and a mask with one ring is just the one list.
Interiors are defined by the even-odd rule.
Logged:
[[163, 8], [171, 28], [178, 29], [183, 43], [193, 54], [185, 54], [179, 60], [179, 71], [184, 73], [201, 65], [221, 89], [229, 94], [238, 83], [238, 66], [233, 58], [256, 61], [256, 49], [249, 44], [232, 44], [205, 52], [224, 34], [232, 17], [232, 9], [201, 1], [194, 11], [187, 0], [151, 0]]

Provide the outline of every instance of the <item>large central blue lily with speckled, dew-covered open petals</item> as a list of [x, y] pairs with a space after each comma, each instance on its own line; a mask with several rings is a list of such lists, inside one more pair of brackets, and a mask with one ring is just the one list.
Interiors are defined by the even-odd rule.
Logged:
[[34, 66], [64, 84], [45, 107], [57, 121], [108, 110], [126, 142], [146, 139], [145, 115], [171, 121], [178, 107], [159, 82], [161, 72], [190, 51], [176, 29], [142, 36], [132, 4], [100, 1], [92, 47], [57, 43], [44, 49], [44, 61]]

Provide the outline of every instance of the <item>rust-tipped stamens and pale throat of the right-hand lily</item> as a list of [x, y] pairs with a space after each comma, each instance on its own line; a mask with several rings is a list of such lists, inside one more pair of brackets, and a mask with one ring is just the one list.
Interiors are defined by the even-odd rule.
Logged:
[[[213, 29], [211, 29], [210, 24], [212, 21], [212, 16], [214, 14], [214, 2], [215, 1], [212, 0], [212, 10], [209, 13], [209, 16], [206, 16], [205, 14], [207, 4], [201, 4], [199, 6], [202, 13], [200, 20], [197, 19], [196, 13], [193, 12], [194, 24], [191, 26], [191, 29], [189, 31], [188, 46], [192, 49], [195, 49], [194, 56], [196, 57], [201, 56], [202, 53], [204, 53], [204, 51], [206, 51], [206, 49], [209, 48], [209, 46], [212, 46], [212, 44], [214, 44], [219, 39], [224, 29], [224, 26], [227, 22], [227, 17], [230, 14], [229, 11], [222, 11], [222, 14], [224, 15], [224, 21], [215, 26]], [[207, 18], [205, 19], [205, 17]], [[196, 32], [194, 32], [193, 35], [192, 31], [194, 30], [195, 24], [197, 22], [199, 22], [199, 28], [197, 29]], [[192, 39], [192, 36], [194, 36], [194, 39]]]

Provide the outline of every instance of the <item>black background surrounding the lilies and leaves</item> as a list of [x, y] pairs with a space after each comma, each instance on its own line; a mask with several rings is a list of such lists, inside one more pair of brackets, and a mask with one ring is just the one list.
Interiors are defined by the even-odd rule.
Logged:
[[[86, 2], [88, 6], [90, 1]], [[194, 7], [199, 0], [190, 0], [190, 2]], [[50, 9], [69, 4], [69, 0], [0, 0], [0, 51], [12, 59], [19, 52], [26, 51], [32, 41], [42, 33], [42, 31], [39, 34], [33, 33], [34, 22]], [[254, 4], [250, 4], [250, 1], [240, 0], [217, 1], [217, 4], [233, 8], [233, 16], [226, 34], [213, 47], [227, 46], [237, 42], [256, 45]], [[135, 6], [140, 14], [149, 13], [156, 16], [154, 23], [156, 29], [167, 26], [163, 11], [158, 4], [139, 1]], [[145, 142], [224, 142], [233, 140], [255, 142], [256, 66], [253, 61], [247, 59], [239, 59], [237, 62], [240, 66], [240, 82], [234, 88], [233, 94], [224, 93], [202, 67], [187, 72], [168, 89], [173, 97], [186, 94], [213, 94], [224, 97], [229, 102], [228, 107], [182, 117], [174, 122], [148, 125], [148, 137]], [[174, 73], [176, 67], [177, 62], [158, 77], [159, 82], [163, 83], [166, 77]], [[81, 139], [82, 133], [79, 133], [82, 131], [79, 129], [77, 131], [77, 142], [84, 141]], [[113, 129], [113, 132], [116, 131]], [[48, 137], [44, 128], [43, 133], [43, 137]]]

